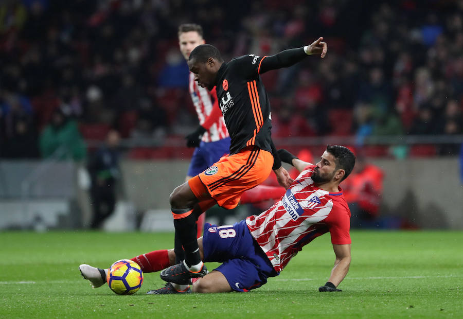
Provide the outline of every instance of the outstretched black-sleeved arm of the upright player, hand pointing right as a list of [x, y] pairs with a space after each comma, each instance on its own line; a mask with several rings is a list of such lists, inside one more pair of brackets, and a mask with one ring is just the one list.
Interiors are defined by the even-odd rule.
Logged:
[[325, 57], [328, 46], [322, 42], [323, 38], [320, 37], [315, 40], [311, 45], [305, 47], [288, 49], [280, 53], [262, 58], [258, 67], [259, 74], [263, 74], [269, 70], [274, 70], [282, 67], [288, 67], [302, 61], [307, 56], [320, 54], [322, 59]]

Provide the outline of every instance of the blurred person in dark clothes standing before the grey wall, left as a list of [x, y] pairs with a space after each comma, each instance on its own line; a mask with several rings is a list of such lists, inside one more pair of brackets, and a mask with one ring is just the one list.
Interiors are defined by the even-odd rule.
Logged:
[[91, 179], [93, 208], [92, 228], [100, 228], [116, 207], [117, 187], [121, 178], [119, 168], [119, 133], [108, 132], [106, 143], [90, 156], [87, 169]]

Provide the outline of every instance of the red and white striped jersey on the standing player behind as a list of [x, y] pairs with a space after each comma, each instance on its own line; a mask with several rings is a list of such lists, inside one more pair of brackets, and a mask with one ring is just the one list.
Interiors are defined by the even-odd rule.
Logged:
[[[214, 87], [209, 91], [207, 88], [199, 86], [193, 79], [194, 74], [190, 72], [189, 91], [194, 109], [198, 114], [200, 125], [203, 125], [214, 108], [220, 110], [216, 88]], [[205, 142], [214, 142], [229, 136], [223, 115], [221, 114], [211, 123], [209, 128], [205, 127], [205, 129], [207, 131], [203, 134], [202, 138]]]

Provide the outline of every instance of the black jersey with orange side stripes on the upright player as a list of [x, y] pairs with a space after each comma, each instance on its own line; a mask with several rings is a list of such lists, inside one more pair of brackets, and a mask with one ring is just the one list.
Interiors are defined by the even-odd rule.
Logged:
[[260, 75], [304, 59], [304, 48], [274, 56], [246, 55], [223, 63], [216, 77], [217, 97], [230, 134], [230, 154], [248, 146], [272, 152], [270, 101]]

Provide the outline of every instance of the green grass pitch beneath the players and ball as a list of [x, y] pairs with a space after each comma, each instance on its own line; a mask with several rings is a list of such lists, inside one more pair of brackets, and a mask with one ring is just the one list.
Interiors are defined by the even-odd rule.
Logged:
[[[305, 246], [278, 277], [249, 293], [134, 295], [91, 289], [80, 263], [108, 267], [172, 246], [173, 234], [0, 233], [0, 318], [463, 317], [463, 232], [353, 231], [343, 292], [319, 293], [334, 253], [329, 235]], [[212, 269], [215, 264], [209, 264]]]

